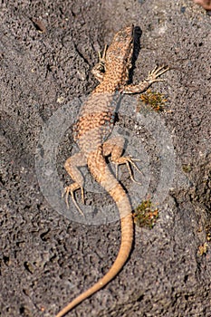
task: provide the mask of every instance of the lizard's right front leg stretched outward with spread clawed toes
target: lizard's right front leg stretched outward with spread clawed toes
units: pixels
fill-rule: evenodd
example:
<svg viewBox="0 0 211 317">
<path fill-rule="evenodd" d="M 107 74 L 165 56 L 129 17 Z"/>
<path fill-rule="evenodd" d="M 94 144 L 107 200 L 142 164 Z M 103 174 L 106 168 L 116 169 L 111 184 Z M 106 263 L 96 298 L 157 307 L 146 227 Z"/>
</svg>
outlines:
<svg viewBox="0 0 211 317">
<path fill-rule="evenodd" d="M 153 82 L 164 82 L 165 80 L 158 78 L 161 76 L 164 72 L 167 72 L 169 70 L 168 67 L 160 66 L 155 67 L 152 72 L 149 72 L 148 77 L 143 82 L 139 82 L 137 85 L 130 84 L 128 86 L 125 86 L 123 89 L 123 93 L 140 93 L 143 91 L 146 91 L 149 86 Z"/>
</svg>

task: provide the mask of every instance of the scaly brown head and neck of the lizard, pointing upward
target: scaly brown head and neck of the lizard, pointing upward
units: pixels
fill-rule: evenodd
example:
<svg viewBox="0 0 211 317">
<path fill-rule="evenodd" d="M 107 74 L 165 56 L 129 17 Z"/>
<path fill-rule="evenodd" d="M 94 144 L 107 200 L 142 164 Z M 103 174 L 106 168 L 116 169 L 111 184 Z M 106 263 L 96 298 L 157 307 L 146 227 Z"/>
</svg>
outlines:
<svg viewBox="0 0 211 317">
<path fill-rule="evenodd" d="M 127 82 L 134 46 L 134 25 L 131 24 L 114 35 L 106 52 L 105 68 L 120 72 L 122 83 Z"/>
</svg>

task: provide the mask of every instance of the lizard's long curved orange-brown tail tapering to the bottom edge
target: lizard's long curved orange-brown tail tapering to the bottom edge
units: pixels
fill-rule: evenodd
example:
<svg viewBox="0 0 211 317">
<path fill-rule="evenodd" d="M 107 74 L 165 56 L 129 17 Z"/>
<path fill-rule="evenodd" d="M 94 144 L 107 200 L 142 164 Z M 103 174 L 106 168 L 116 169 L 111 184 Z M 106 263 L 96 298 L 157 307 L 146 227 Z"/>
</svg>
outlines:
<svg viewBox="0 0 211 317">
<path fill-rule="evenodd" d="M 67 312 L 72 310 L 73 307 L 82 303 L 82 301 L 90 297 L 93 293 L 101 290 L 102 287 L 109 283 L 120 272 L 121 268 L 126 263 L 133 242 L 133 219 L 129 197 L 123 187 L 120 186 L 117 179 L 110 173 L 110 169 L 108 168 L 105 159 L 102 157 L 101 151 L 98 153 L 94 152 L 89 156 L 88 167 L 91 170 L 93 177 L 110 193 L 110 196 L 119 208 L 121 225 L 120 250 L 108 273 L 105 274 L 97 283 L 93 284 L 91 288 L 80 294 L 71 303 L 65 306 L 62 311 L 58 312 L 56 317 L 64 316 Z"/>
</svg>

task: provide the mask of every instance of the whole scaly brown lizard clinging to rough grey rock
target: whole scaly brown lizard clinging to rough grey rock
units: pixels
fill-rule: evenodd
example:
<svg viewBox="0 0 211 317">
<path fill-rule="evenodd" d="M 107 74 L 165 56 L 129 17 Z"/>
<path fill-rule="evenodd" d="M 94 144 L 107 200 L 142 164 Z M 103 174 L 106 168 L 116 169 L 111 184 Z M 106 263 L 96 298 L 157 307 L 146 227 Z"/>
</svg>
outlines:
<svg viewBox="0 0 211 317">
<path fill-rule="evenodd" d="M 116 167 L 120 164 L 127 164 L 130 176 L 129 164 L 135 166 L 135 159 L 121 157 L 124 139 L 121 137 L 109 139 L 109 137 L 120 96 L 124 93 L 138 93 L 147 90 L 153 82 L 161 81 L 158 76 L 168 71 L 167 67 L 157 67 L 149 72 L 148 78 L 143 82 L 139 82 L 137 85 L 128 84 L 133 46 L 134 26 L 130 25 L 120 30 L 114 36 L 109 48 L 105 47 L 102 56 L 100 54 L 100 62 L 92 70 L 100 84 L 82 105 L 79 119 L 74 127 L 74 140 L 77 142 L 80 152 L 67 159 L 64 165 L 74 181 L 64 190 L 67 203 L 70 193 L 75 206 L 82 212 L 74 199 L 74 191 L 81 189 L 83 200 L 83 178 L 79 167 L 85 165 L 88 166 L 93 178 L 106 189 L 115 201 L 120 212 L 120 251 L 109 272 L 91 288 L 73 299 L 61 312 L 58 312 L 56 317 L 62 317 L 109 283 L 126 263 L 131 250 L 133 241 L 132 207 L 125 190 L 110 172 L 105 157 L 110 155 L 111 161 L 116 164 Z"/>
</svg>

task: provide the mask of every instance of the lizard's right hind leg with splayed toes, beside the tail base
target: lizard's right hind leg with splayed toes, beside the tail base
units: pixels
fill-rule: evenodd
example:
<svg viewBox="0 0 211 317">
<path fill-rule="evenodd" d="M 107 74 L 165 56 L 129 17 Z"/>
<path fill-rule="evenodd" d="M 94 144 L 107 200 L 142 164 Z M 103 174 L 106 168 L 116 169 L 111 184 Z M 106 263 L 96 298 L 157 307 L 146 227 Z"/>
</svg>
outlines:
<svg viewBox="0 0 211 317">
<path fill-rule="evenodd" d="M 121 164 L 126 164 L 129 169 L 129 177 L 134 183 L 141 185 L 135 178 L 133 177 L 132 168 L 135 168 L 140 174 L 142 172 L 139 170 L 138 166 L 135 162 L 139 161 L 139 159 L 133 159 L 131 156 L 122 157 L 122 151 L 124 149 L 125 139 L 121 136 L 113 137 L 108 139 L 103 144 L 103 155 L 109 156 L 111 154 L 111 161 L 116 165 L 116 178 L 118 178 L 118 168 Z"/>
</svg>

